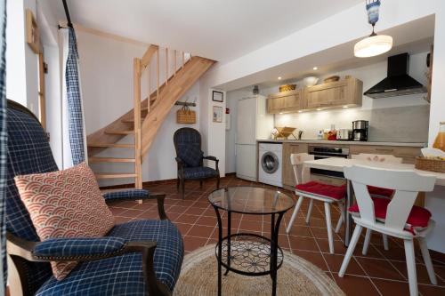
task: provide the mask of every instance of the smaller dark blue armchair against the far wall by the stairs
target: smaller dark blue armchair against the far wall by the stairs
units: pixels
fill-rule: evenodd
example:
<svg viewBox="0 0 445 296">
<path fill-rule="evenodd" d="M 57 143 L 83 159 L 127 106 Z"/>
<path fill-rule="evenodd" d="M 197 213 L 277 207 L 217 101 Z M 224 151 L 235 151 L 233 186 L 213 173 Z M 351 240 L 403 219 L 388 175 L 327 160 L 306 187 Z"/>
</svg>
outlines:
<svg viewBox="0 0 445 296">
<path fill-rule="evenodd" d="M 219 160 L 214 156 L 204 156 L 201 150 L 201 134 L 190 127 L 183 127 L 174 132 L 173 140 L 178 165 L 176 188 L 181 187 L 182 199 L 185 195 L 185 180 L 199 180 L 202 188 L 203 180 L 216 178 L 216 188 L 219 188 Z M 215 169 L 204 166 L 204 159 L 214 161 Z"/>
</svg>

